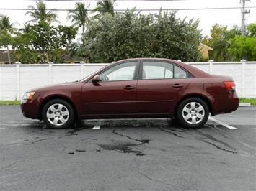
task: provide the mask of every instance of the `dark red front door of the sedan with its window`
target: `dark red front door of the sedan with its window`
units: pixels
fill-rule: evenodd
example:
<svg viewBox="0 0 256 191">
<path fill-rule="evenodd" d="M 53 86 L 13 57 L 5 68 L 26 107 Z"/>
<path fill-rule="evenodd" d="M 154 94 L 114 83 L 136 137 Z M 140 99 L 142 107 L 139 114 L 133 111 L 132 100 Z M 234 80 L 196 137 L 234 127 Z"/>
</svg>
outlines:
<svg viewBox="0 0 256 191">
<path fill-rule="evenodd" d="M 114 64 L 98 75 L 100 82 L 88 82 L 82 88 L 84 115 L 111 116 L 134 113 L 138 61 Z"/>
</svg>

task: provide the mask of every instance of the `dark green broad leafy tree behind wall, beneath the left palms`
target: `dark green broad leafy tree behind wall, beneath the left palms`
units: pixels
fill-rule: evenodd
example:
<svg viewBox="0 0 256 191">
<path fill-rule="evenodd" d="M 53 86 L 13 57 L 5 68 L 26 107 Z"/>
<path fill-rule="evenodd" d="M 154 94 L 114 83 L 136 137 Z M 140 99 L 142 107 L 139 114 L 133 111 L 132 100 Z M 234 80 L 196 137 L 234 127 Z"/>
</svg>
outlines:
<svg viewBox="0 0 256 191">
<path fill-rule="evenodd" d="M 24 63 L 63 62 L 64 55 L 69 54 L 76 32 L 77 28 L 61 25 L 53 27 L 43 21 L 35 25 L 28 24 L 22 33 L 14 37 L 14 55 Z"/>
</svg>

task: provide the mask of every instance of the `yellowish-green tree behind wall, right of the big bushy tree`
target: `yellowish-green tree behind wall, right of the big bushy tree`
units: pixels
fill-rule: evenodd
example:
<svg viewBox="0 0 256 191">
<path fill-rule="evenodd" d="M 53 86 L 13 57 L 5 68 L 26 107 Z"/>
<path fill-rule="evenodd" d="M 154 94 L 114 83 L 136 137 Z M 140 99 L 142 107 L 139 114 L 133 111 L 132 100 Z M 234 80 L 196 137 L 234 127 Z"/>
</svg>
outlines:
<svg viewBox="0 0 256 191">
<path fill-rule="evenodd" d="M 213 25 L 211 29 L 211 37 L 205 37 L 203 44 L 212 47 L 213 50 L 210 52 L 210 58 L 215 61 L 230 61 L 231 56 L 229 55 L 229 39 L 241 34 L 237 27 L 229 30 L 226 26 L 219 24 Z"/>
</svg>

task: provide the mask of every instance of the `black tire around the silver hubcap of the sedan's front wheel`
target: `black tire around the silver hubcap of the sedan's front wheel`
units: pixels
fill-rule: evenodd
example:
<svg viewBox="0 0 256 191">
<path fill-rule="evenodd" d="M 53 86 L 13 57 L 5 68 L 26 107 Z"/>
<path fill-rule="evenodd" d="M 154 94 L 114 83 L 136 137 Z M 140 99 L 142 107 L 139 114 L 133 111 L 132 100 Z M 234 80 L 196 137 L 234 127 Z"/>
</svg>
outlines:
<svg viewBox="0 0 256 191">
<path fill-rule="evenodd" d="M 48 108 L 50 108 L 50 106 L 53 106 L 54 104 L 62 104 L 63 106 L 66 107 L 65 109 L 69 111 L 69 116 L 66 118 L 66 122 L 64 124 L 54 125 L 54 124 L 51 124 L 50 121 L 48 120 L 47 118 Z M 72 124 L 74 124 L 74 119 L 75 119 L 74 108 L 72 108 L 72 106 L 67 101 L 64 101 L 62 99 L 53 99 L 45 103 L 45 106 L 43 106 L 42 117 L 43 117 L 43 121 L 45 121 L 45 124 L 47 124 L 50 128 L 66 129 L 66 128 L 69 128 Z"/>
</svg>

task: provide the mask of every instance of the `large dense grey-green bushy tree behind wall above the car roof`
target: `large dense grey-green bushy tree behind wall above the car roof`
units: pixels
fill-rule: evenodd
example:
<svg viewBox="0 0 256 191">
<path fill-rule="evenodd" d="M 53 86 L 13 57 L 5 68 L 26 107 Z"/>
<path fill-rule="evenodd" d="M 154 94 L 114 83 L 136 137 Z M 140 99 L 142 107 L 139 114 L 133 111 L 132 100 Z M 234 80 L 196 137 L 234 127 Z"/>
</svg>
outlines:
<svg viewBox="0 0 256 191">
<path fill-rule="evenodd" d="M 198 22 L 177 19 L 175 12 L 105 15 L 87 27 L 85 37 L 92 62 L 112 62 L 131 57 L 199 59 Z"/>
</svg>

